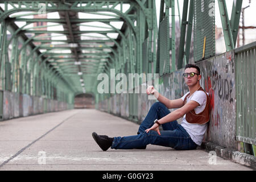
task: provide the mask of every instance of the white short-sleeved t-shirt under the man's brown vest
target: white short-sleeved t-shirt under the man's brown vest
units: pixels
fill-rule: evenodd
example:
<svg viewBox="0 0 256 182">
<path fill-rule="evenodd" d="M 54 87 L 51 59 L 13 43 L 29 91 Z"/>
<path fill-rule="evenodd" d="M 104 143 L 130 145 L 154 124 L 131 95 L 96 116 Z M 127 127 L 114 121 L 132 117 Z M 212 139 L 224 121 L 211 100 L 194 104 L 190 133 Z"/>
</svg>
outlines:
<svg viewBox="0 0 256 182">
<path fill-rule="evenodd" d="M 189 94 L 189 92 L 181 97 L 183 101 L 187 94 Z M 195 113 L 199 114 L 205 109 L 205 106 L 207 104 L 207 96 L 203 91 L 197 90 L 192 94 L 192 96 L 187 97 L 187 103 L 189 101 L 196 101 L 199 104 L 199 106 L 195 108 Z M 181 120 L 181 126 L 184 127 L 193 142 L 200 146 L 204 138 L 204 133 L 207 130 L 207 123 L 205 123 L 204 125 L 188 123 L 186 121 L 186 115 L 184 115 Z"/>
</svg>

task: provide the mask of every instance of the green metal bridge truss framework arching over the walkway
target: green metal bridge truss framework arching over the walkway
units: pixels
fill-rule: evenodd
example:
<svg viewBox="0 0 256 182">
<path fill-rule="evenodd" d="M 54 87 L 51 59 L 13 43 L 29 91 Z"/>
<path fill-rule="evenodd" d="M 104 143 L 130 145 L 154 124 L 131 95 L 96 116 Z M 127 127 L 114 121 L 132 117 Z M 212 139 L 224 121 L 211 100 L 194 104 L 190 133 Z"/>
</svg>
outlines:
<svg viewBox="0 0 256 182">
<path fill-rule="evenodd" d="M 180 32 L 175 3 L 179 8 L 175 0 L 0 1 L 0 89 L 69 103 L 86 92 L 97 102 L 110 96 L 97 94 L 99 73 L 110 75 L 114 68 L 116 74 L 163 75 L 182 68 L 189 62 L 193 22 L 195 61 L 213 56 L 214 16 L 204 28 L 200 17 L 214 8 L 214 0 L 184 0 Z M 236 44 L 242 1 L 233 5 L 231 20 L 225 1 L 218 4 L 229 51 Z M 59 17 L 47 17 L 51 13 Z"/>
</svg>

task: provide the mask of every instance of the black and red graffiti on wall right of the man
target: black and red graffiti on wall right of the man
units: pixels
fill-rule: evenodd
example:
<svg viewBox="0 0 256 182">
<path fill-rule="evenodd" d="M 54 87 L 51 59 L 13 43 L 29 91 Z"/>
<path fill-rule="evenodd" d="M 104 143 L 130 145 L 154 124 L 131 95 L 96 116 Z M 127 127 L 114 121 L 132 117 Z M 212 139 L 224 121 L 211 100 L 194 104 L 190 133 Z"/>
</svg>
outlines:
<svg viewBox="0 0 256 182">
<path fill-rule="evenodd" d="M 234 105 L 233 56 L 226 53 L 219 59 L 208 61 L 208 75 L 204 78 L 205 91 L 210 97 L 211 126 L 217 129 L 221 127 L 223 107 Z"/>
</svg>

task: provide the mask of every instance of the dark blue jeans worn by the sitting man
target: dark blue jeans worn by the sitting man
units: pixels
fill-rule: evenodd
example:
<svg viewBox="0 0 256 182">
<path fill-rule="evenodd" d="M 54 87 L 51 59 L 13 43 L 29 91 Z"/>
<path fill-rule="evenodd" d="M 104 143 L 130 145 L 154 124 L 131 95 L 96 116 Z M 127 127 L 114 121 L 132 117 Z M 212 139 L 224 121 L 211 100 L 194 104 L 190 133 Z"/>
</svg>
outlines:
<svg viewBox="0 0 256 182">
<path fill-rule="evenodd" d="M 155 144 L 159 146 L 171 147 L 176 150 L 193 150 L 197 144 L 193 142 L 187 131 L 177 123 L 172 121 L 162 125 L 159 135 L 156 131 L 146 129 L 154 125 L 155 119 L 160 119 L 170 113 L 170 110 L 161 102 L 155 102 L 147 113 L 146 118 L 139 126 L 138 135 L 129 137 L 114 137 L 111 148 L 114 149 L 132 149 Z"/>
</svg>

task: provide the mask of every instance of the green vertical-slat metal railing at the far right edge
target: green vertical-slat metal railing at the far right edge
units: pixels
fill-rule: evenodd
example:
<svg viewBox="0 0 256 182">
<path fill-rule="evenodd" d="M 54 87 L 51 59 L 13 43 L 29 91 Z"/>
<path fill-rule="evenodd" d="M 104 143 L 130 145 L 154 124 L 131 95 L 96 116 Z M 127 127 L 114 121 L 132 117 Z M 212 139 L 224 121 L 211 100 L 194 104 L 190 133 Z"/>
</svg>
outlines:
<svg viewBox="0 0 256 182">
<path fill-rule="evenodd" d="M 256 42 L 234 49 L 236 60 L 236 140 L 256 144 Z"/>
</svg>

